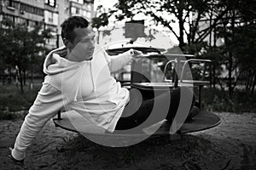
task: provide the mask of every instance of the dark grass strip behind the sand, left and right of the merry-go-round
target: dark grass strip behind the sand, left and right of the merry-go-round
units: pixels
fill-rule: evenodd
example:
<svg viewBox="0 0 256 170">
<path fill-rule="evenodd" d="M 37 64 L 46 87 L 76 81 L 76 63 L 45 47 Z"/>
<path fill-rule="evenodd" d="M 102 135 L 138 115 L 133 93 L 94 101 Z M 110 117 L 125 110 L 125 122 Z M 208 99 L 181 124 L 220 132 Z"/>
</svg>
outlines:
<svg viewBox="0 0 256 170">
<path fill-rule="evenodd" d="M 21 94 L 20 88 L 15 85 L 0 85 L 0 119 L 10 120 L 25 116 L 40 88 L 41 86 L 35 86 L 30 90 L 26 86 L 24 94 Z M 256 112 L 256 95 L 247 95 L 243 91 L 236 91 L 230 99 L 226 91 L 204 88 L 202 100 L 207 111 Z"/>
</svg>

